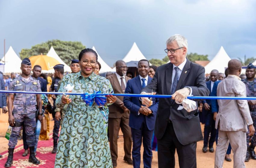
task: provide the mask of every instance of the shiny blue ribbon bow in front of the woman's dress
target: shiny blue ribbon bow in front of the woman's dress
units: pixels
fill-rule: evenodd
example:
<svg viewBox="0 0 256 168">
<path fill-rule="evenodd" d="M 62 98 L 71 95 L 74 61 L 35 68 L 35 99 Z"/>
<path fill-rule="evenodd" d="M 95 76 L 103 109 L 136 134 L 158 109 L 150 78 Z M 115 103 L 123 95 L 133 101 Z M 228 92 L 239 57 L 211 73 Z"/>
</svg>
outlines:
<svg viewBox="0 0 256 168">
<path fill-rule="evenodd" d="M 100 94 L 96 95 L 96 94 Z M 101 95 L 101 91 L 97 91 L 96 93 L 84 93 L 81 95 L 83 101 L 86 103 L 86 105 L 92 106 L 93 102 L 95 102 L 98 106 L 104 106 L 104 104 L 107 102 L 107 98 Z"/>
</svg>

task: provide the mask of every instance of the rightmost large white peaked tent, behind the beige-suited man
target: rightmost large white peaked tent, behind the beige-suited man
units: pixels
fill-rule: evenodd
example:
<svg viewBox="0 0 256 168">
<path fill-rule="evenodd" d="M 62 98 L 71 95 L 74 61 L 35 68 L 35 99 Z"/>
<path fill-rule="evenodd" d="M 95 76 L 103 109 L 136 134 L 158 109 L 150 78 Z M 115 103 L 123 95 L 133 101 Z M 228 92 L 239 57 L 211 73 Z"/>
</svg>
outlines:
<svg viewBox="0 0 256 168">
<path fill-rule="evenodd" d="M 209 62 L 204 68 L 205 73 L 211 73 L 211 70 L 217 69 L 220 73 L 225 72 L 225 67 L 228 67 L 228 62 L 231 58 L 228 56 L 223 46 L 220 47 L 220 50 L 215 55 L 215 57 Z"/>
</svg>

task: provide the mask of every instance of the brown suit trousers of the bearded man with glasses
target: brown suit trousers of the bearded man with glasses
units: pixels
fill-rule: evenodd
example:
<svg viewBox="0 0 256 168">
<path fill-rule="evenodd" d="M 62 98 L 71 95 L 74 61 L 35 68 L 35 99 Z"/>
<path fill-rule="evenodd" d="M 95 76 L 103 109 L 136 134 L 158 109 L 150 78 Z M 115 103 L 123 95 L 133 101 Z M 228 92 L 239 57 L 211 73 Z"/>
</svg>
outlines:
<svg viewBox="0 0 256 168">
<path fill-rule="evenodd" d="M 131 158 L 132 149 L 132 133 L 129 127 L 129 118 L 122 117 L 120 119 L 108 118 L 108 131 L 109 131 L 109 141 L 110 141 L 110 152 L 112 160 L 117 160 L 117 136 L 119 129 L 121 128 L 123 132 L 123 148 L 124 157 Z"/>
</svg>

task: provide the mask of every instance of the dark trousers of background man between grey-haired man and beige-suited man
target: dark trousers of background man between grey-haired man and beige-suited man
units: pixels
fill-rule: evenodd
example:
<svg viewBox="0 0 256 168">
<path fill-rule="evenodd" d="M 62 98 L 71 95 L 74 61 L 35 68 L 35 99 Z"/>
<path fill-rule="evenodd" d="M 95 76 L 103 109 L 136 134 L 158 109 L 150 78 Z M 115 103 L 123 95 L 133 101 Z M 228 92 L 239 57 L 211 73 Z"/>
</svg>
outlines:
<svg viewBox="0 0 256 168">
<path fill-rule="evenodd" d="M 210 136 L 211 133 L 211 136 Z M 210 136 L 210 139 L 209 139 Z M 216 129 L 215 129 L 215 121 L 213 119 L 213 113 L 209 112 L 205 116 L 205 124 L 204 124 L 204 146 L 209 147 L 213 146 L 213 143 L 216 138 Z"/>
</svg>

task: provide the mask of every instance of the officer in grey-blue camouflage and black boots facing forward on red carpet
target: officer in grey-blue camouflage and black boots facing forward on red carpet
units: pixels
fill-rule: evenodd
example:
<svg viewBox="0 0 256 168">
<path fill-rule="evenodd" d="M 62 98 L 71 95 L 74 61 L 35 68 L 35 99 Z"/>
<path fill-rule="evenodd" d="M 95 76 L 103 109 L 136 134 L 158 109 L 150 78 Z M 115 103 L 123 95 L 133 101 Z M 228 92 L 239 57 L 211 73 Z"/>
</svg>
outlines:
<svg viewBox="0 0 256 168">
<path fill-rule="evenodd" d="M 20 67 L 22 74 L 13 79 L 10 83 L 9 90 L 13 91 L 41 91 L 40 83 L 37 79 L 30 76 L 31 63 L 28 58 L 24 58 Z M 21 94 L 10 93 L 8 96 L 8 122 L 12 127 L 11 136 L 9 139 L 8 158 L 5 167 L 11 167 L 13 162 L 14 147 L 17 145 L 17 137 L 20 134 L 21 123 L 24 122 L 25 132 L 27 136 L 27 144 L 30 150 L 29 162 L 40 164 L 34 153 L 36 129 L 36 106 L 39 109 L 38 119 L 42 121 L 42 104 L 39 94 Z M 12 108 L 13 107 L 13 108 Z M 13 109 L 13 110 L 11 110 Z"/>
</svg>

